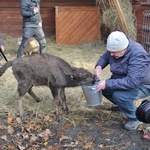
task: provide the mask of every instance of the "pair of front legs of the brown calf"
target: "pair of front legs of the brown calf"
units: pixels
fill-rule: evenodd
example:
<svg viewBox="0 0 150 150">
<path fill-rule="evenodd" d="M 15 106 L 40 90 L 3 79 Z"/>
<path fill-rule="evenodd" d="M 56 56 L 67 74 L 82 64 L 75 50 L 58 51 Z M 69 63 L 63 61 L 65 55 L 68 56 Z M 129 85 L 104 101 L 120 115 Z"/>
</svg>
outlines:
<svg viewBox="0 0 150 150">
<path fill-rule="evenodd" d="M 54 97 L 54 101 L 56 104 L 57 121 L 61 122 L 62 118 L 61 118 L 61 114 L 60 114 L 60 109 L 62 107 L 62 103 L 63 103 L 64 110 L 68 111 L 64 88 L 51 87 L 51 91 L 52 91 L 52 95 Z"/>
</svg>

